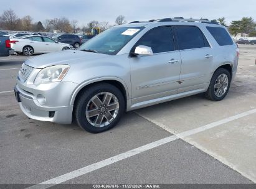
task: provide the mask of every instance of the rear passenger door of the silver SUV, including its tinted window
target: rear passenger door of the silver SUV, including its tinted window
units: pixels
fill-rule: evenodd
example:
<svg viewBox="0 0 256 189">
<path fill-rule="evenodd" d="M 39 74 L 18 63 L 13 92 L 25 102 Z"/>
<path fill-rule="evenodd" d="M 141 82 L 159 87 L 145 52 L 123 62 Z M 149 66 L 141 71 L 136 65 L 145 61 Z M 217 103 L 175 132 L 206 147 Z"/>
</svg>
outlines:
<svg viewBox="0 0 256 189">
<path fill-rule="evenodd" d="M 177 25 L 175 30 L 182 59 L 178 93 L 204 89 L 209 83 L 212 48 L 199 27 Z"/>
</svg>

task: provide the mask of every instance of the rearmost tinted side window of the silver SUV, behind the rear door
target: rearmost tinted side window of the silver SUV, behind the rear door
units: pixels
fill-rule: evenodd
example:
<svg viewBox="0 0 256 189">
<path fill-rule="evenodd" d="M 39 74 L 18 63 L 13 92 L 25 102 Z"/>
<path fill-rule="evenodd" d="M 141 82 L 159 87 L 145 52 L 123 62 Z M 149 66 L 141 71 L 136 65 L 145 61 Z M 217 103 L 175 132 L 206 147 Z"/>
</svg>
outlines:
<svg viewBox="0 0 256 189">
<path fill-rule="evenodd" d="M 209 30 L 209 32 L 212 34 L 212 36 L 220 46 L 234 44 L 229 33 L 224 28 L 222 27 L 206 27 L 206 28 L 207 30 Z"/>
</svg>

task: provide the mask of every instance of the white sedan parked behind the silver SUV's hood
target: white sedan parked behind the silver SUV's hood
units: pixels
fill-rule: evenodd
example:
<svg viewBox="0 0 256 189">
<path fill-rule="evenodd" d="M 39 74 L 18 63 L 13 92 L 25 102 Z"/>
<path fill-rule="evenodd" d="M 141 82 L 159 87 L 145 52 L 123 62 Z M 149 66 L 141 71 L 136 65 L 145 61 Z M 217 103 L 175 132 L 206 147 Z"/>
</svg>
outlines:
<svg viewBox="0 0 256 189">
<path fill-rule="evenodd" d="M 40 35 L 24 36 L 10 40 L 11 48 L 17 53 L 31 56 L 34 53 L 49 53 L 73 48 L 69 44 L 63 44 Z"/>
</svg>

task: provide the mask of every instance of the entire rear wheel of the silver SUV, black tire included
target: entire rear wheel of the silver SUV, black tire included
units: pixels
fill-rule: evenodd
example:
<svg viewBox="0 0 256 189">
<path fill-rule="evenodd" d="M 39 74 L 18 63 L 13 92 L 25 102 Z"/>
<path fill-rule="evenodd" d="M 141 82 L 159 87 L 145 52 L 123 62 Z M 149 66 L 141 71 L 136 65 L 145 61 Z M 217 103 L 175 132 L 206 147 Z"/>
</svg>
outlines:
<svg viewBox="0 0 256 189">
<path fill-rule="evenodd" d="M 224 99 L 229 92 L 230 81 L 231 76 L 228 70 L 225 68 L 216 70 L 212 75 L 209 88 L 206 91 L 206 98 L 212 101 L 220 101 Z"/>
</svg>

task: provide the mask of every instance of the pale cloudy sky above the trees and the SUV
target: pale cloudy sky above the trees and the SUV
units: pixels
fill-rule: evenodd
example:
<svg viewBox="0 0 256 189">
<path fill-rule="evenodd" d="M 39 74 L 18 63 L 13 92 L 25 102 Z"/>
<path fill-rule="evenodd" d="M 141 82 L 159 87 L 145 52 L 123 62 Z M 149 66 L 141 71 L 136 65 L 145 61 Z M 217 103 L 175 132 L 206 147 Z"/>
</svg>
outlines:
<svg viewBox="0 0 256 189">
<path fill-rule="evenodd" d="M 6 9 L 19 17 L 30 15 L 34 22 L 67 17 L 77 20 L 80 27 L 93 20 L 114 24 L 118 15 L 125 16 L 127 22 L 178 16 L 209 20 L 225 17 L 227 24 L 242 17 L 256 21 L 256 0 L 12 0 L 1 3 L 0 15 Z"/>
</svg>

